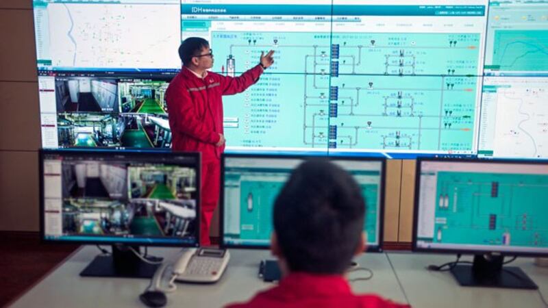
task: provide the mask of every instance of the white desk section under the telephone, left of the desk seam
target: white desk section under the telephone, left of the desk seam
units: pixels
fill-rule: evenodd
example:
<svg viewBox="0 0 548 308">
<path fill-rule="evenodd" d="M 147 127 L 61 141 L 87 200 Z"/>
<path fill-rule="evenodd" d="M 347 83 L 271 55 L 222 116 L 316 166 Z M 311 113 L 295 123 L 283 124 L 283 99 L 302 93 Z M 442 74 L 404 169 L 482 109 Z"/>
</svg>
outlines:
<svg viewBox="0 0 548 308">
<path fill-rule="evenodd" d="M 138 295 L 149 284 L 148 279 L 101 279 L 80 277 L 81 272 L 99 251 L 83 246 L 62 266 L 51 272 L 38 285 L 18 298 L 12 307 L 145 307 Z M 175 248 L 150 248 L 150 255 L 171 256 Z M 269 251 L 230 250 L 230 262 L 221 280 L 212 285 L 177 284 L 177 291 L 168 294 L 167 307 L 221 307 L 226 303 L 244 301 L 256 292 L 271 287 L 257 277 L 260 259 L 272 259 Z M 351 283 L 354 292 L 377 293 L 405 303 L 406 298 L 384 253 L 369 253 L 356 258 L 360 266 L 370 268 L 369 281 Z M 349 278 L 363 277 L 355 272 Z"/>
</svg>

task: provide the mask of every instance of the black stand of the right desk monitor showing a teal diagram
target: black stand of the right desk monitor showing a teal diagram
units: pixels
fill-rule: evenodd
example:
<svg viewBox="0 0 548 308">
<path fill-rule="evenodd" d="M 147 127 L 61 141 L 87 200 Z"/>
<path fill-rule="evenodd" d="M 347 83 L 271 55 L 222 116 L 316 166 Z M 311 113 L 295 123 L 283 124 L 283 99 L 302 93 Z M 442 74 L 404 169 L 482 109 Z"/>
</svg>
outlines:
<svg viewBox="0 0 548 308">
<path fill-rule="evenodd" d="M 473 265 L 457 265 L 451 273 L 466 287 L 506 287 L 536 290 L 538 286 L 518 267 L 504 266 L 501 255 L 475 255 Z"/>
</svg>

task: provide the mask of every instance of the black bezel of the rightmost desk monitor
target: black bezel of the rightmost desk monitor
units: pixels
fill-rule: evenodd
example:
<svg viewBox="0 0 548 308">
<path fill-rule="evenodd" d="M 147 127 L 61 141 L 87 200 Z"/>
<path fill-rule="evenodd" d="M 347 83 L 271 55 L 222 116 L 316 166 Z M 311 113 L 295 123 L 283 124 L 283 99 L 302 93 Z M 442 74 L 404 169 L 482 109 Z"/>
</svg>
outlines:
<svg viewBox="0 0 548 308">
<path fill-rule="evenodd" d="M 442 158 L 442 157 L 419 157 L 416 159 L 415 171 L 415 189 L 413 201 L 413 230 L 412 230 L 412 251 L 420 253 L 444 253 L 444 254 L 462 254 L 462 255 L 484 255 L 497 254 L 506 256 L 523 256 L 523 257 L 542 257 L 548 256 L 547 253 L 527 253 L 523 251 L 501 251 L 497 250 L 496 246 L 493 249 L 466 249 L 466 248 L 424 248 L 417 245 L 418 228 L 419 228 L 419 199 L 421 190 L 421 166 L 423 162 L 462 162 L 476 164 L 530 164 L 540 165 L 547 164 L 545 161 L 538 160 L 516 160 L 516 159 L 458 159 L 458 158 Z"/>
</svg>

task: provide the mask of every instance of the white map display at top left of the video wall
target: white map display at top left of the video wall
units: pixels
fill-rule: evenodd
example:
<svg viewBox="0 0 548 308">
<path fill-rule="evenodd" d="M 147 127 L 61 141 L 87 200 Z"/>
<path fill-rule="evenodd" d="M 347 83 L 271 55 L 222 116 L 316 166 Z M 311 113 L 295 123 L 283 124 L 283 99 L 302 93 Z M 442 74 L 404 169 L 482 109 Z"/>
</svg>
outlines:
<svg viewBox="0 0 548 308">
<path fill-rule="evenodd" d="M 38 70 L 180 68 L 178 0 L 34 0 Z"/>
</svg>

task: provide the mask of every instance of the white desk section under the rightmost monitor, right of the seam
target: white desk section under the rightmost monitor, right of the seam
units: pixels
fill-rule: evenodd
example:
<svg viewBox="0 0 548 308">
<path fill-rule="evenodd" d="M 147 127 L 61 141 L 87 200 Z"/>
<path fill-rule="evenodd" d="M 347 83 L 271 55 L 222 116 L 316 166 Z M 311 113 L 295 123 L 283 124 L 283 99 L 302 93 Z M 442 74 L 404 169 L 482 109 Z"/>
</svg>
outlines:
<svg viewBox="0 0 548 308">
<path fill-rule="evenodd" d="M 413 307 L 545 307 L 537 290 L 461 287 L 451 272 L 426 270 L 430 264 L 455 261 L 454 255 L 389 253 L 388 257 Z M 533 264 L 532 258 L 518 258 L 508 266 L 518 266 L 548 296 L 548 268 Z M 462 261 L 472 261 L 471 256 Z"/>
</svg>

